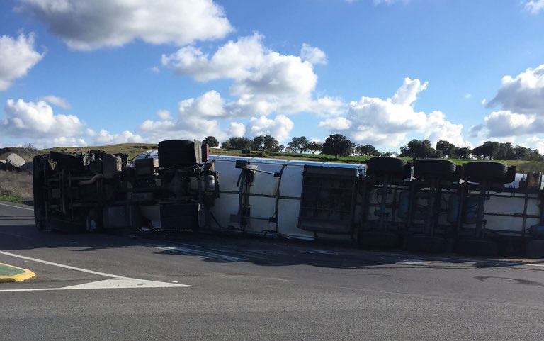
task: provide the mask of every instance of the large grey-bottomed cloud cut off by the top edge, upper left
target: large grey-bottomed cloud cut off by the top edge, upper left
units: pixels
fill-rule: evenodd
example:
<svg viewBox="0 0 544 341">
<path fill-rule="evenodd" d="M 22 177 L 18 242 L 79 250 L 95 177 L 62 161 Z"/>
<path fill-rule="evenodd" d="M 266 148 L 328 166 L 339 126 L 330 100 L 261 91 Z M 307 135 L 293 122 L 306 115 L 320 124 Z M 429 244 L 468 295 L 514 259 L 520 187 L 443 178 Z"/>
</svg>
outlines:
<svg viewBox="0 0 544 341">
<path fill-rule="evenodd" d="M 186 45 L 223 38 L 232 31 L 212 0 L 18 0 L 17 11 L 31 13 L 69 47 L 96 50 L 141 39 Z"/>
</svg>

